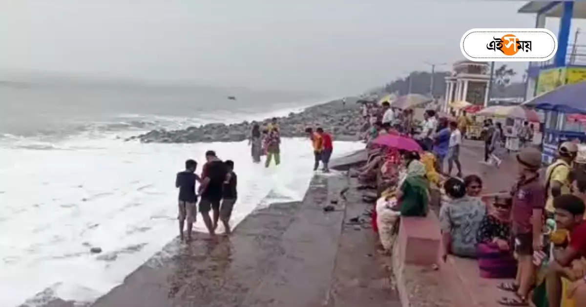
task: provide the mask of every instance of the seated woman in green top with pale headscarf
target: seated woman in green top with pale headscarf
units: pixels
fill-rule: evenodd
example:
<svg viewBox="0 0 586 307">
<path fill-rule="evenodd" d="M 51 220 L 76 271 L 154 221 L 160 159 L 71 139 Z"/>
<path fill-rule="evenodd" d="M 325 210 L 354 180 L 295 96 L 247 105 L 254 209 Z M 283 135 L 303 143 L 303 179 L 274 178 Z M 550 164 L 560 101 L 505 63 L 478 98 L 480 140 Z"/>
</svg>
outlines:
<svg viewBox="0 0 586 307">
<path fill-rule="evenodd" d="M 428 184 L 425 179 L 425 165 L 419 161 L 417 151 L 401 154 L 401 163 L 407 167 L 407 177 L 397 191 L 398 208 L 401 216 L 427 216 L 429 203 Z"/>
</svg>

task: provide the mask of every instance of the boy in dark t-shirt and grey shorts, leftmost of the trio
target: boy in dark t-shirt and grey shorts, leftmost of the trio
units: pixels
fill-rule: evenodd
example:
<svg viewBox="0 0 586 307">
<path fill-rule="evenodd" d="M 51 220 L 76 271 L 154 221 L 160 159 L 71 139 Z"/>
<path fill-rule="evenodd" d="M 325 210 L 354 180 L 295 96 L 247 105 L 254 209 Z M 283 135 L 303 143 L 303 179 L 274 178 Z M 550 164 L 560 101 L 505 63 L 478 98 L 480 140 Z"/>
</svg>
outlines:
<svg viewBox="0 0 586 307">
<path fill-rule="evenodd" d="M 195 174 L 197 162 L 194 160 L 185 161 L 185 171 L 177 173 L 175 187 L 179 188 L 179 238 L 183 241 L 183 226 L 187 219 L 187 240 L 191 240 L 193 222 L 197 216 L 197 195 L 195 195 L 195 182 L 200 181 Z"/>
</svg>

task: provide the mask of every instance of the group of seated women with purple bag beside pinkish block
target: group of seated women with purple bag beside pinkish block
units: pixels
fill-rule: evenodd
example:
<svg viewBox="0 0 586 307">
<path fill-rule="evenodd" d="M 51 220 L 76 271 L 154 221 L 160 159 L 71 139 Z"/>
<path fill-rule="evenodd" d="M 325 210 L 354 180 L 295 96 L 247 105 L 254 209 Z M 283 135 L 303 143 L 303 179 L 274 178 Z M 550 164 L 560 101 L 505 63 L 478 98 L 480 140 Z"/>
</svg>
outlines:
<svg viewBox="0 0 586 307">
<path fill-rule="evenodd" d="M 444 184 L 448 201 L 440 209 L 444 260 L 448 253 L 478 258 L 481 276 L 515 277 L 516 260 L 510 244 L 512 199 L 495 196 L 487 210 L 479 194 L 482 180 L 469 175 L 464 181 L 449 178 Z"/>
</svg>

